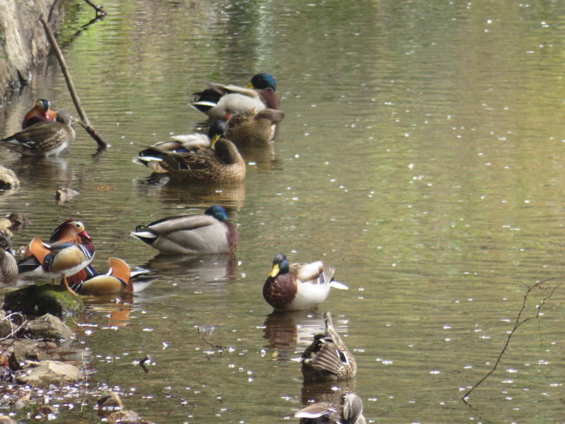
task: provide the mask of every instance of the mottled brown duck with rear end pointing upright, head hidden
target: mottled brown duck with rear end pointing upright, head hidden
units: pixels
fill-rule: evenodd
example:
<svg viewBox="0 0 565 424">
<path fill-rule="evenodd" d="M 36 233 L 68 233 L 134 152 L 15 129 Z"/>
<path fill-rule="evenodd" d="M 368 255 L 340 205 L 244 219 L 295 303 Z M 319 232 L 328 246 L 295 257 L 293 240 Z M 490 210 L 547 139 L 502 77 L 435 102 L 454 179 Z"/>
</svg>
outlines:
<svg viewBox="0 0 565 424">
<path fill-rule="evenodd" d="M 323 334 L 316 334 L 300 357 L 304 381 L 335 382 L 355 377 L 357 363 L 333 328 L 330 312 L 323 315 L 323 322 Z"/>
</svg>

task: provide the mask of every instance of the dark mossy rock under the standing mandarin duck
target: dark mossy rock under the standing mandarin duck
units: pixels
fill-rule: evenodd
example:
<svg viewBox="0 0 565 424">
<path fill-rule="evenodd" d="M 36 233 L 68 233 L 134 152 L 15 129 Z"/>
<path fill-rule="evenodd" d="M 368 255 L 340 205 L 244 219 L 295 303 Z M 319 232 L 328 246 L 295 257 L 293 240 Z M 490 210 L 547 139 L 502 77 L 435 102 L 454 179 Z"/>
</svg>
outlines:
<svg viewBox="0 0 565 424">
<path fill-rule="evenodd" d="M 66 319 L 76 317 L 84 310 L 84 302 L 62 285 L 28 285 L 28 287 L 11 290 L 4 295 L 6 312 L 20 312 L 24 315 L 40 317 L 52 314 Z"/>
</svg>

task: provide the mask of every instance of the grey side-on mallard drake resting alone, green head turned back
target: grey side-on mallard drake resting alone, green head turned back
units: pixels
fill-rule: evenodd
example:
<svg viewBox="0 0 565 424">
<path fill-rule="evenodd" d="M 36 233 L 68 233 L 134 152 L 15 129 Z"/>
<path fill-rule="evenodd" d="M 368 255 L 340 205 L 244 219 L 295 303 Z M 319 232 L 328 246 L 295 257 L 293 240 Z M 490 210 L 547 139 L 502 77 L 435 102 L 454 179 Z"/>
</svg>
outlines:
<svg viewBox="0 0 565 424">
<path fill-rule="evenodd" d="M 163 253 L 232 253 L 239 232 L 227 220 L 222 206 L 210 206 L 203 215 L 169 216 L 149 225 L 138 225 L 131 235 Z"/>
</svg>

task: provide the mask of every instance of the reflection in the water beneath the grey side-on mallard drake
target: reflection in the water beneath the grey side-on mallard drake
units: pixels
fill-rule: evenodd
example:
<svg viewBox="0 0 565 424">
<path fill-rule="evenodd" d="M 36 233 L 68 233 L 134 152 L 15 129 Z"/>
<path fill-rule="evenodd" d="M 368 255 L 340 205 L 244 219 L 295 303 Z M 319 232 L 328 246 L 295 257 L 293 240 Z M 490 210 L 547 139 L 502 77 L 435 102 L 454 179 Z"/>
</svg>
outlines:
<svg viewBox="0 0 565 424">
<path fill-rule="evenodd" d="M 177 278 L 198 279 L 205 283 L 234 281 L 237 278 L 235 254 L 207 254 L 201 256 L 157 254 L 143 268 L 154 273 Z"/>
</svg>

